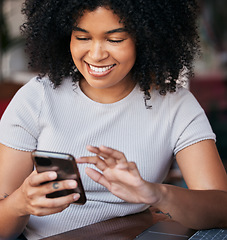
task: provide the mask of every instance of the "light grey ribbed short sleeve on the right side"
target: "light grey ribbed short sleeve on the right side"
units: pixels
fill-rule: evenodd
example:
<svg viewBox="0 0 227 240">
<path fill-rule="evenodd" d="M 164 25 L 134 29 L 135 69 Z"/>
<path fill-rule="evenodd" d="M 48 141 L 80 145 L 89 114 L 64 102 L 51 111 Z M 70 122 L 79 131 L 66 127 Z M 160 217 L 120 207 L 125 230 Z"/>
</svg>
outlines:
<svg viewBox="0 0 227 240">
<path fill-rule="evenodd" d="M 216 140 L 204 110 L 187 89 L 180 88 L 170 96 L 169 111 L 174 154 L 194 143 Z"/>
</svg>

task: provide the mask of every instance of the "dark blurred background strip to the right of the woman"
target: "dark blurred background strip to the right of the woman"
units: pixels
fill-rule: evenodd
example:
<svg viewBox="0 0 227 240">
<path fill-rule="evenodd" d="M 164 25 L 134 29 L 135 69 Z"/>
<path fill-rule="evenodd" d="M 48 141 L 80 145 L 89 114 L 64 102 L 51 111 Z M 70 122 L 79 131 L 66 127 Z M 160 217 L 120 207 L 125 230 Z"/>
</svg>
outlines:
<svg viewBox="0 0 227 240">
<path fill-rule="evenodd" d="M 198 0 L 201 57 L 190 90 L 204 108 L 227 168 L 227 1 Z"/>
</svg>

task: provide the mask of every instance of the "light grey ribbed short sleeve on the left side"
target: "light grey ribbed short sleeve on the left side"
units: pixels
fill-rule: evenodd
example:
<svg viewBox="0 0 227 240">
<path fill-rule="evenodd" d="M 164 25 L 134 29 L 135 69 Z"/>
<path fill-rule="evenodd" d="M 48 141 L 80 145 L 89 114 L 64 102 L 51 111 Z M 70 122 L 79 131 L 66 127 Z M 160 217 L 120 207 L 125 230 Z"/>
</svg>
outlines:
<svg viewBox="0 0 227 240">
<path fill-rule="evenodd" d="M 37 78 L 19 89 L 0 121 L 2 144 L 22 151 L 36 148 L 42 99 L 43 84 Z"/>
</svg>

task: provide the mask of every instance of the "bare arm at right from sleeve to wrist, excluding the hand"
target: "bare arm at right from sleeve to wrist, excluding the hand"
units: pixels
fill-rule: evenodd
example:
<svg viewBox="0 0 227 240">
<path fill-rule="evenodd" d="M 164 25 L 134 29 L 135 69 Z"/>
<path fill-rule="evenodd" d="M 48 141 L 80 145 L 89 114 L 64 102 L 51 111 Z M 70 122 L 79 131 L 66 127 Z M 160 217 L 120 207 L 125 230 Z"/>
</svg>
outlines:
<svg viewBox="0 0 227 240">
<path fill-rule="evenodd" d="M 227 227 L 227 175 L 214 141 L 189 146 L 176 159 L 190 190 L 169 187 L 168 201 L 177 206 L 169 208 L 173 218 L 194 228 Z"/>
</svg>

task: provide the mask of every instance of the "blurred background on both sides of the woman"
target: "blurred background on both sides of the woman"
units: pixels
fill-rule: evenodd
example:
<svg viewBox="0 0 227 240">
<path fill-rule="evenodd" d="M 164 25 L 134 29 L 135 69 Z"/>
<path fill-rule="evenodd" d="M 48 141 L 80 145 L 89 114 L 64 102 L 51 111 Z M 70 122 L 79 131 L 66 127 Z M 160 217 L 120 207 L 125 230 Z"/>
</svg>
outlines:
<svg viewBox="0 0 227 240">
<path fill-rule="evenodd" d="M 198 31 L 201 56 L 189 88 L 204 108 L 217 135 L 217 147 L 227 163 L 227 1 L 198 0 L 201 5 Z M 0 0 L 0 117 L 15 91 L 36 75 L 27 68 L 23 0 Z"/>
</svg>

